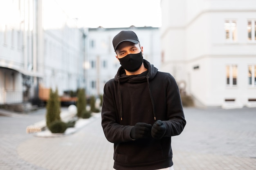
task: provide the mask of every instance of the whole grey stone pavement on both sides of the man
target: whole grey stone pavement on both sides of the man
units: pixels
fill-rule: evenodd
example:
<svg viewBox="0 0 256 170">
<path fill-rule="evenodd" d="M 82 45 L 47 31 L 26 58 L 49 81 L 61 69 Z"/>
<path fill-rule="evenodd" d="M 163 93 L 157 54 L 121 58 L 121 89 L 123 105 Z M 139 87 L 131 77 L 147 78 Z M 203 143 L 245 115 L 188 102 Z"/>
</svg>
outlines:
<svg viewBox="0 0 256 170">
<path fill-rule="evenodd" d="M 256 108 L 184 108 L 186 127 L 172 138 L 175 170 L 256 170 Z M 45 110 L 0 116 L 0 170 L 112 170 L 113 145 L 101 119 L 72 135 L 36 137 L 26 127 Z"/>
</svg>

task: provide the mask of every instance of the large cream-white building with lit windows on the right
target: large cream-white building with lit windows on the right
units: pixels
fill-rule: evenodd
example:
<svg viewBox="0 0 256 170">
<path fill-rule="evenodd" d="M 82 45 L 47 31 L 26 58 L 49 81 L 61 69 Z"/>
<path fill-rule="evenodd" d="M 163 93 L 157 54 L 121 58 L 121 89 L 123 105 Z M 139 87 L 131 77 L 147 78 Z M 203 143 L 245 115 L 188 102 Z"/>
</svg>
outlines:
<svg viewBox="0 0 256 170">
<path fill-rule="evenodd" d="M 161 0 L 161 8 L 163 71 L 197 106 L 255 107 L 256 0 Z"/>
</svg>

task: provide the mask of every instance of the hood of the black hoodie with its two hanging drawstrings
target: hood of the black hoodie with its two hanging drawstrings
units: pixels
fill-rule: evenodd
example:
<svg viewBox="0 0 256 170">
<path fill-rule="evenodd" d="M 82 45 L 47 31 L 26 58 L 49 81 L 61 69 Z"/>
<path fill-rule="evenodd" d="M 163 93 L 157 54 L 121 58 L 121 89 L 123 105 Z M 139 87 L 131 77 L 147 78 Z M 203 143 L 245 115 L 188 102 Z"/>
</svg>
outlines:
<svg viewBox="0 0 256 170">
<path fill-rule="evenodd" d="M 120 84 L 122 83 L 130 83 L 130 84 L 135 84 L 135 83 L 141 83 L 141 82 L 147 82 L 148 84 L 148 91 L 151 99 L 151 104 L 153 107 L 153 117 L 155 119 L 155 104 L 154 104 L 154 99 L 153 95 L 150 89 L 150 83 L 149 81 L 155 77 L 157 74 L 158 69 L 154 67 L 153 64 L 150 64 L 147 60 L 143 60 L 143 64 L 145 68 L 148 70 L 145 71 L 144 73 L 141 73 L 140 75 L 126 75 L 125 70 L 122 66 L 119 67 L 117 74 L 115 75 L 115 81 L 118 82 L 118 96 L 119 96 L 119 109 L 120 109 L 120 117 L 121 120 L 123 120 L 123 106 L 122 106 L 122 94 L 120 90 Z"/>
</svg>

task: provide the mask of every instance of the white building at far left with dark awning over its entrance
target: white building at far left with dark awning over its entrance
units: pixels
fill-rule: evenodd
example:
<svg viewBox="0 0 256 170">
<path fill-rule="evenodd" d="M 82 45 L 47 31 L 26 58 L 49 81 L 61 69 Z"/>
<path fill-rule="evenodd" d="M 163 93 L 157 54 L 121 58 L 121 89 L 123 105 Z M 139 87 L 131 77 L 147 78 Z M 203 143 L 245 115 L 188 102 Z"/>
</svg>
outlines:
<svg viewBox="0 0 256 170">
<path fill-rule="evenodd" d="M 38 29 L 32 1 L 0 2 L 0 104 L 21 103 L 41 74 L 36 57 Z M 34 28 L 34 29 L 33 29 Z"/>
</svg>

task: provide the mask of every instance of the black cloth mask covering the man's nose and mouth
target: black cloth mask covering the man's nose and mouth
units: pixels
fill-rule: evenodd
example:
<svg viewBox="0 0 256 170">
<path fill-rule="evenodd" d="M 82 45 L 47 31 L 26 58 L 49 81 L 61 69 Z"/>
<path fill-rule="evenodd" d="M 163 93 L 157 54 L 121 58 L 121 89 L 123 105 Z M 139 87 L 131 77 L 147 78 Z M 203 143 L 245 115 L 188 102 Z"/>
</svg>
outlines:
<svg viewBox="0 0 256 170">
<path fill-rule="evenodd" d="M 128 54 L 123 58 L 119 58 L 119 62 L 124 69 L 133 72 L 140 68 L 143 62 L 143 56 L 141 52 L 137 54 Z"/>
</svg>

